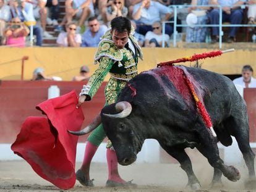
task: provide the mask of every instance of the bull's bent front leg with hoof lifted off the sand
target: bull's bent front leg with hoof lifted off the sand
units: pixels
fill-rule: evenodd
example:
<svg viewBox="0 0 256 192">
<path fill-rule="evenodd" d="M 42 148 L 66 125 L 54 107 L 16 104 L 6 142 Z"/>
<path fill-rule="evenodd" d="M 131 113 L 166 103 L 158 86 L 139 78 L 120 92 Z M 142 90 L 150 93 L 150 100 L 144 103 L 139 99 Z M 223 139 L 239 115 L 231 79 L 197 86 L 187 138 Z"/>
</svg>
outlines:
<svg viewBox="0 0 256 192">
<path fill-rule="evenodd" d="M 233 167 L 228 166 L 223 163 L 223 160 L 220 158 L 220 152 L 217 146 L 216 139 L 213 138 L 210 131 L 206 127 L 197 126 L 198 134 L 200 138 L 200 146 L 197 147 L 203 156 L 207 157 L 208 162 L 215 169 L 220 169 L 223 175 L 229 180 L 236 182 L 240 178 L 239 171 Z"/>
</svg>

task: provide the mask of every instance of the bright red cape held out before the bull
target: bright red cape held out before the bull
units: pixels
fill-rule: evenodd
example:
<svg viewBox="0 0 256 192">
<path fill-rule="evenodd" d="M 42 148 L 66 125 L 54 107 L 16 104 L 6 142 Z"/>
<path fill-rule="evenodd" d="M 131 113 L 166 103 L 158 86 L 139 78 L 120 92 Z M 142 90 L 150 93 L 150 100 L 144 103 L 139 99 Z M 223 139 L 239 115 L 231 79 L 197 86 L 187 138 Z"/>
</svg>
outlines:
<svg viewBox="0 0 256 192">
<path fill-rule="evenodd" d="M 48 99 L 36 106 L 47 117 L 28 117 L 11 149 L 40 177 L 58 188 L 67 190 L 75 185 L 75 156 L 78 136 L 67 129 L 80 130 L 84 116 L 75 106 L 75 91 Z"/>
</svg>

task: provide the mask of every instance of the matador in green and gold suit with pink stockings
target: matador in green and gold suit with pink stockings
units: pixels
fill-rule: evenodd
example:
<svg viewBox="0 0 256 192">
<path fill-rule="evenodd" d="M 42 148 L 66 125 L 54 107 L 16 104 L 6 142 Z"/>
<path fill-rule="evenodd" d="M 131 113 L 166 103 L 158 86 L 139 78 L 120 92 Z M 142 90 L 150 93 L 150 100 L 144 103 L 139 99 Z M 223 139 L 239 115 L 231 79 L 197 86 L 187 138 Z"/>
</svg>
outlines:
<svg viewBox="0 0 256 192">
<path fill-rule="evenodd" d="M 111 20 L 111 29 L 102 37 L 96 50 L 95 62 L 99 62 L 99 67 L 90 77 L 87 85 L 83 85 L 77 107 L 93 98 L 108 73 L 110 78 L 105 88 L 105 105 L 116 102 L 122 88 L 137 75 L 137 64 L 139 58 L 142 59 L 142 51 L 131 30 L 130 20 L 126 17 L 121 16 Z M 76 173 L 77 180 L 84 186 L 93 186 L 93 180 L 90 180 L 90 163 L 105 137 L 106 133 L 101 123 L 88 137 L 83 163 Z M 136 186 L 119 176 L 116 152 L 111 148 L 111 143 L 107 144 L 106 157 L 109 171 L 106 186 Z"/>
</svg>

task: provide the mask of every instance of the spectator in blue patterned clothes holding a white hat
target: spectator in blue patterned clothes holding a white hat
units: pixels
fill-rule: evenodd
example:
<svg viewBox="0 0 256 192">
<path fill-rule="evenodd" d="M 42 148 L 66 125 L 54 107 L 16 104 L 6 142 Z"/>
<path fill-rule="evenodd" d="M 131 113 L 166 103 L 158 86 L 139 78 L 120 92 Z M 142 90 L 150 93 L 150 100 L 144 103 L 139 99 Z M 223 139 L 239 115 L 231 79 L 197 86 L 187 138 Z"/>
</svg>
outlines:
<svg viewBox="0 0 256 192">
<path fill-rule="evenodd" d="M 196 20 L 195 25 L 205 25 L 208 23 L 208 15 L 207 10 L 210 7 L 197 7 L 197 6 L 205 6 L 208 5 L 208 0 L 192 0 L 191 6 L 188 11 L 187 20 L 191 22 L 193 18 Z M 187 22 L 187 24 L 189 24 Z M 197 42 L 202 43 L 205 42 L 205 38 L 208 33 L 207 27 L 194 27 L 193 25 L 189 25 L 186 31 L 186 42 Z"/>
</svg>

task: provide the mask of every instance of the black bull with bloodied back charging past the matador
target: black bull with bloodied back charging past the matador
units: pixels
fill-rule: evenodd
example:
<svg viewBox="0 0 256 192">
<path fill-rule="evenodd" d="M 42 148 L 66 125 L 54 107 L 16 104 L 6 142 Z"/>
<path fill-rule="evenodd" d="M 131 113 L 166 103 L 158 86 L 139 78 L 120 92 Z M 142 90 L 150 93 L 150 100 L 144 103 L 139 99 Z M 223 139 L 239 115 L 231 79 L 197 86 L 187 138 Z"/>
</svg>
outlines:
<svg viewBox="0 0 256 192">
<path fill-rule="evenodd" d="M 202 99 L 216 138 L 205 126 L 184 74 Z M 145 139 L 153 138 L 179 161 L 192 188 L 200 188 L 200 184 L 185 148 L 197 148 L 207 157 L 214 167 L 212 184 L 221 182 L 222 173 L 233 182 L 239 180 L 239 171 L 224 164 L 217 146 L 218 141 L 224 146 L 231 145 L 232 135 L 249 170 L 247 184 L 255 185 L 255 155 L 249 145 L 247 107 L 233 82 L 223 75 L 181 66 L 143 72 L 127 83 L 117 103 L 104 107 L 100 116 L 119 164 L 132 164 Z"/>
</svg>

